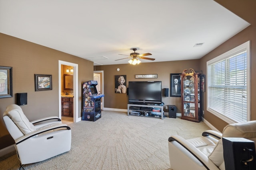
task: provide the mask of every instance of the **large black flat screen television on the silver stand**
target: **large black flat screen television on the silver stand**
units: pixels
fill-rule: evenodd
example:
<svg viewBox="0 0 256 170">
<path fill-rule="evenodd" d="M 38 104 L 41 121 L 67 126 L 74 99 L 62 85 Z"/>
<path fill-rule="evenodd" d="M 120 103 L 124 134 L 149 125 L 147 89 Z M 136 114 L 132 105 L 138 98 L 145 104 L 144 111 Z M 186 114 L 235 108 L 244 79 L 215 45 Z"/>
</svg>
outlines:
<svg viewBox="0 0 256 170">
<path fill-rule="evenodd" d="M 129 82 L 128 98 L 130 104 L 161 104 L 162 82 Z"/>
</svg>

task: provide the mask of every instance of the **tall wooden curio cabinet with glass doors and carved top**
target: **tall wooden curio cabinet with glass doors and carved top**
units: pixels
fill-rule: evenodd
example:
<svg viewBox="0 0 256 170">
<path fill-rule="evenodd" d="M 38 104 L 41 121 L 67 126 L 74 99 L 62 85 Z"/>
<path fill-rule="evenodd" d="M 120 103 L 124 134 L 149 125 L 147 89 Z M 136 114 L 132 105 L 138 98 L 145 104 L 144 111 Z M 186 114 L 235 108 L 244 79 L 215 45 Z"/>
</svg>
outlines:
<svg viewBox="0 0 256 170">
<path fill-rule="evenodd" d="M 183 70 L 181 78 L 181 119 L 200 122 L 200 74 L 193 69 Z"/>
</svg>

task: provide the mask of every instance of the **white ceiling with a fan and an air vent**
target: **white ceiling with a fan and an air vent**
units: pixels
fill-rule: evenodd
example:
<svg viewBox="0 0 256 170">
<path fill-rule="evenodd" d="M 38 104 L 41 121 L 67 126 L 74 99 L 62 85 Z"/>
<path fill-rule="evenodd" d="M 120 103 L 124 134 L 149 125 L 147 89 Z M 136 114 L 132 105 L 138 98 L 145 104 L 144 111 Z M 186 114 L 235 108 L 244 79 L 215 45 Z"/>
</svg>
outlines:
<svg viewBox="0 0 256 170">
<path fill-rule="evenodd" d="M 1 33 L 94 65 L 200 59 L 248 25 L 213 0 L 0 0 Z"/>
</svg>

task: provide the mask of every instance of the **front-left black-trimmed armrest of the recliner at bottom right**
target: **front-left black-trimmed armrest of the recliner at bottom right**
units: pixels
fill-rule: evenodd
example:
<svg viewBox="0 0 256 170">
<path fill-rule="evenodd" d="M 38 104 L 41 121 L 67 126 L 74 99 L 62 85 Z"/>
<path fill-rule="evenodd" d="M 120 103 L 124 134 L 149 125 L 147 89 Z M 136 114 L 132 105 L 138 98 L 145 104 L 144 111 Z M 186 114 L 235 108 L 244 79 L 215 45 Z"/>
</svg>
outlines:
<svg viewBox="0 0 256 170">
<path fill-rule="evenodd" d="M 200 150 L 198 150 L 196 147 L 188 143 L 186 139 L 178 135 L 172 135 L 171 137 L 169 137 L 168 141 L 176 141 L 177 143 L 179 143 L 184 149 L 188 150 L 188 152 L 190 152 L 198 161 L 200 161 L 206 169 L 218 169 L 217 166 L 206 155 L 202 154 Z"/>
</svg>

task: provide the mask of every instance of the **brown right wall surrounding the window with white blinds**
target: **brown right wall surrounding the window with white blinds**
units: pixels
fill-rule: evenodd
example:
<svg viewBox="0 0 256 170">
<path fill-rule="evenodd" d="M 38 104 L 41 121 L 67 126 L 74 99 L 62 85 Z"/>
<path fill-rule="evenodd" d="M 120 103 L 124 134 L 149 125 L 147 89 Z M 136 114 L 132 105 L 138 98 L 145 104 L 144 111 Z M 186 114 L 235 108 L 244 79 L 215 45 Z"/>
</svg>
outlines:
<svg viewBox="0 0 256 170">
<path fill-rule="evenodd" d="M 220 5 L 224 6 L 234 14 L 240 16 L 242 19 L 248 21 L 251 25 L 235 35 L 234 37 L 228 39 L 228 41 L 224 42 L 222 45 L 208 53 L 206 56 L 200 59 L 200 70 L 202 70 L 206 74 L 206 62 L 217 57 L 246 41 L 250 41 L 251 43 L 251 56 L 250 56 L 250 72 L 251 72 L 251 120 L 256 120 L 256 112 L 254 111 L 254 104 L 256 103 L 256 96 L 252 95 L 256 93 L 256 89 L 253 88 L 253 85 L 256 84 L 256 10 L 254 9 L 256 6 L 256 1 L 254 0 L 215 0 Z M 206 82 L 207 83 L 207 82 Z M 203 107 L 206 108 L 206 92 L 202 96 L 204 98 Z M 222 131 L 223 128 L 228 124 L 212 113 L 206 111 L 204 109 L 204 118 L 209 121 L 214 127 L 216 127 L 219 131 Z"/>
</svg>

